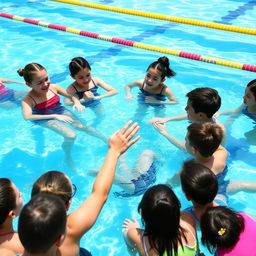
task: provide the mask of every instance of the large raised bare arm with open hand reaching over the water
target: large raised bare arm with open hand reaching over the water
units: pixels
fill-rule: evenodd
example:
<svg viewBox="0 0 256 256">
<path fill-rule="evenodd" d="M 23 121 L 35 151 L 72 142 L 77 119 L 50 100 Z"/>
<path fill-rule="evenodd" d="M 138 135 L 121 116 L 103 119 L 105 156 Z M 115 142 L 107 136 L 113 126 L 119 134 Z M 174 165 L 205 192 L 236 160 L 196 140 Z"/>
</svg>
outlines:
<svg viewBox="0 0 256 256">
<path fill-rule="evenodd" d="M 139 126 L 134 123 L 129 128 L 131 124 L 132 121 L 129 121 L 121 130 L 116 131 L 110 137 L 109 150 L 96 177 L 91 195 L 68 217 L 68 233 L 71 234 L 74 241 L 78 242 L 97 220 L 111 189 L 118 158 L 139 140 L 139 136 L 132 139 L 139 130 Z"/>
</svg>

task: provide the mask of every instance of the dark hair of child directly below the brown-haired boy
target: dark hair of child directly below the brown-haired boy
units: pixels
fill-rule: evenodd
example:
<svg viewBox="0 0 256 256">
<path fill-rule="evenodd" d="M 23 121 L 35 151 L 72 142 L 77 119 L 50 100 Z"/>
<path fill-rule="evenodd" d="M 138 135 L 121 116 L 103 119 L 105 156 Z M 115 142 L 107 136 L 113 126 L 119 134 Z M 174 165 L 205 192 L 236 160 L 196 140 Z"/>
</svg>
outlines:
<svg viewBox="0 0 256 256">
<path fill-rule="evenodd" d="M 180 181 L 183 192 L 200 205 L 211 203 L 218 191 L 215 174 L 195 160 L 183 163 Z"/>
</svg>

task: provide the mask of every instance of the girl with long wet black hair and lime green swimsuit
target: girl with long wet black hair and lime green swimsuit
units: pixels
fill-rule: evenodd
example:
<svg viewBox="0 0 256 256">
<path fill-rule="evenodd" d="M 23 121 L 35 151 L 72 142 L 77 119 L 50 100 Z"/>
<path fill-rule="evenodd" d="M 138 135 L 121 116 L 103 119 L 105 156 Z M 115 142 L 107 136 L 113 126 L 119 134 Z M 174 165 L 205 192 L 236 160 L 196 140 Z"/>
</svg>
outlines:
<svg viewBox="0 0 256 256">
<path fill-rule="evenodd" d="M 137 220 L 125 219 L 124 239 L 131 255 L 194 256 L 197 254 L 195 222 L 180 212 L 180 202 L 167 185 L 149 188 L 138 206 L 144 229 Z"/>
</svg>

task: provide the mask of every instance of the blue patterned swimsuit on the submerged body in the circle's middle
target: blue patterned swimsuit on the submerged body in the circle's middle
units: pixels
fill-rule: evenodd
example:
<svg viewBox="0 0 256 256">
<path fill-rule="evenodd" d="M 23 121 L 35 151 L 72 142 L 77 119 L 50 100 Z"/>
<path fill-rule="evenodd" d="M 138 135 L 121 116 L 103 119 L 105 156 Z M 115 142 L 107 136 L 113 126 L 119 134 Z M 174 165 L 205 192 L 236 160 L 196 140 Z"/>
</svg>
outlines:
<svg viewBox="0 0 256 256">
<path fill-rule="evenodd" d="M 131 197 L 131 196 L 140 196 L 142 195 L 150 185 L 156 181 L 156 163 L 153 162 L 149 167 L 148 171 L 141 174 L 138 178 L 132 179 L 131 183 L 134 184 L 134 192 L 127 193 L 125 191 L 114 192 L 116 197 Z"/>
</svg>

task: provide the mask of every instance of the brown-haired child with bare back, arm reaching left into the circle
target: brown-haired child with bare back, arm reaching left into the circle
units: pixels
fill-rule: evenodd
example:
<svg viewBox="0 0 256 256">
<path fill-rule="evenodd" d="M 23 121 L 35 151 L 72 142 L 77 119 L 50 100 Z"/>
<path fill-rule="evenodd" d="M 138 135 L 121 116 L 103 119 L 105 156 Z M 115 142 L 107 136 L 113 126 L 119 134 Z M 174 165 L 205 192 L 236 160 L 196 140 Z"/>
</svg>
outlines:
<svg viewBox="0 0 256 256">
<path fill-rule="evenodd" d="M 187 128 L 186 143 L 169 134 L 165 124 L 155 123 L 154 127 L 173 145 L 194 156 L 197 163 L 208 167 L 216 175 L 219 184 L 218 194 L 225 194 L 227 190 L 229 193 L 256 191 L 256 182 L 231 182 L 225 179 L 228 171 L 226 165 L 228 152 L 220 145 L 223 140 L 223 130 L 217 124 L 192 123 Z M 179 182 L 179 173 L 175 174 L 169 182 Z"/>
</svg>

